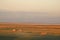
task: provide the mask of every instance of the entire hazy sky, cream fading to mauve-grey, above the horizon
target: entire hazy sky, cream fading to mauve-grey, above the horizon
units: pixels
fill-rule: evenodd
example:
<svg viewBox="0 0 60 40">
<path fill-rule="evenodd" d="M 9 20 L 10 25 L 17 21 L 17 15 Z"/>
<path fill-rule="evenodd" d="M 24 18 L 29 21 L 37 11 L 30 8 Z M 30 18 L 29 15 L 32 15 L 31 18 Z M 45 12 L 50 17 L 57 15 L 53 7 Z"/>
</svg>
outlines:
<svg viewBox="0 0 60 40">
<path fill-rule="evenodd" d="M 0 0 L 0 22 L 60 24 L 60 0 Z"/>
</svg>

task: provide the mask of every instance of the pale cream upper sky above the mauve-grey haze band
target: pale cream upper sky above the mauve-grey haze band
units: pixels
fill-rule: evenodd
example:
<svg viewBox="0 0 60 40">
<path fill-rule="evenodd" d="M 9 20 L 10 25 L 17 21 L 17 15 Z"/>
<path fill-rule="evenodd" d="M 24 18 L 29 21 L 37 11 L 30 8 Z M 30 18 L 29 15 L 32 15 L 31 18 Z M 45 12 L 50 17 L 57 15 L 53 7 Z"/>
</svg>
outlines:
<svg viewBox="0 0 60 40">
<path fill-rule="evenodd" d="M 0 0 L 0 9 L 10 11 L 59 11 L 60 0 Z"/>
</svg>

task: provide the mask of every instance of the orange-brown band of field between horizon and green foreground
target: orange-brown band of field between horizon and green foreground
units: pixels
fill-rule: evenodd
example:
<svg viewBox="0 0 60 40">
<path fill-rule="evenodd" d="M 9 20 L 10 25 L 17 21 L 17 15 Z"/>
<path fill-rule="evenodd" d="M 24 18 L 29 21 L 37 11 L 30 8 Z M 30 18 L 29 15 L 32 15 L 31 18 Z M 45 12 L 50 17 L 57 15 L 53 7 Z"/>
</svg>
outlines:
<svg viewBox="0 0 60 40">
<path fill-rule="evenodd" d="M 6 28 L 10 28 L 6 29 Z M 0 33 L 32 32 L 41 35 L 60 35 L 60 25 L 0 23 Z"/>
</svg>

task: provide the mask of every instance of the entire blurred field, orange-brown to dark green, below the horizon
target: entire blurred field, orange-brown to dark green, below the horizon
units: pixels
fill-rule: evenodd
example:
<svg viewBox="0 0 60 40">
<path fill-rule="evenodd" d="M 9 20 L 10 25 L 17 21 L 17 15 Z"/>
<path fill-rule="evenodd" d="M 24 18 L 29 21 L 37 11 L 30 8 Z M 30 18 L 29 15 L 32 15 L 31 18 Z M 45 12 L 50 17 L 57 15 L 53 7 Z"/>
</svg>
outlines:
<svg viewBox="0 0 60 40">
<path fill-rule="evenodd" d="M 60 25 L 0 23 L 0 40 L 60 40 Z"/>
</svg>

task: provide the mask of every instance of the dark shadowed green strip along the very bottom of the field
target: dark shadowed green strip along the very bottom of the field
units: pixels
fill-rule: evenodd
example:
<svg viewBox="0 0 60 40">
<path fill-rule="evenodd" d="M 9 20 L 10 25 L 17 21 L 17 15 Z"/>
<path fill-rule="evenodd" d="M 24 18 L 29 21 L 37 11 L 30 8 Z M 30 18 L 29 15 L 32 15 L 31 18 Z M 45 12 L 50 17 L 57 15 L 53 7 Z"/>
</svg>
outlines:
<svg viewBox="0 0 60 40">
<path fill-rule="evenodd" d="M 26 35 L 25 35 L 26 36 Z M 41 35 L 32 35 L 30 37 L 25 36 L 0 36 L 0 40 L 60 40 L 60 36 L 41 36 Z"/>
</svg>

